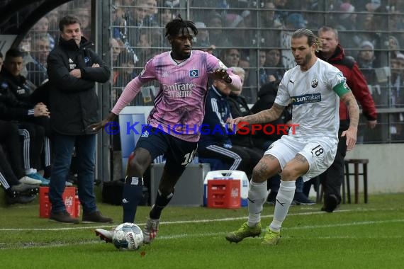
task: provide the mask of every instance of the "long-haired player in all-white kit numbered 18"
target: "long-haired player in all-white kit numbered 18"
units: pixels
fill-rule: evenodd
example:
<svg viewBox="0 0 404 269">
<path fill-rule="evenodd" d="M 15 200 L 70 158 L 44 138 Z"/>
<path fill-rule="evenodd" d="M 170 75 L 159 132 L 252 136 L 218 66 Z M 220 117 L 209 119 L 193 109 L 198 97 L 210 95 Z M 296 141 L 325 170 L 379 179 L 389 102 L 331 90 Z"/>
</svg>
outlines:
<svg viewBox="0 0 404 269">
<path fill-rule="evenodd" d="M 266 229 L 262 244 L 278 244 L 281 224 L 286 218 L 295 193 L 296 178 L 307 181 L 325 171 L 335 158 L 338 143 L 339 103 L 347 105 L 351 122 L 342 133 L 347 149 L 357 142 L 359 108 L 342 72 L 315 57 L 318 38 L 308 29 L 298 29 L 291 38 L 296 67 L 286 71 L 274 105 L 254 115 L 231 120 L 263 123 L 279 118 L 289 102 L 293 104 L 292 122 L 298 125 L 289 135 L 271 144 L 254 167 L 248 193 L 248 219 L 237 231 L 226 235 L 238 243 L 261 234 L 261 212 L 267 191 L 266 179 L 281 173 L 281 186 L 276 196 L 274 219 Z"/>
</svg>

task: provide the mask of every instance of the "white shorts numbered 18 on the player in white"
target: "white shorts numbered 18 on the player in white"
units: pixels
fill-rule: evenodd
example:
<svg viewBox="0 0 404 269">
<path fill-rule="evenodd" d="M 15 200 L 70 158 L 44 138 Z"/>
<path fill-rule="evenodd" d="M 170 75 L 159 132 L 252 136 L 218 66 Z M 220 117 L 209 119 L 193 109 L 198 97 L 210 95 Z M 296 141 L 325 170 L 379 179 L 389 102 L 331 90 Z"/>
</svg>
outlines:
<svg viewBox="0 0 404 269">
<path fill-rule="evenodd" d="M 335 154 L 337 154 L 337 145 L 338 140 L 330 139 L 330 137 L 313 137 L 303 142 L 293 135 L 284 135 L 272 143 L 264 155 L 269 154 L 278 159 L 283 170 L 296 154 L 301 154 L 308 160 L 309 168 L 307 173 L 303 175 L 303 181 L 308 181 L 331 166 Z"/>
</svg>

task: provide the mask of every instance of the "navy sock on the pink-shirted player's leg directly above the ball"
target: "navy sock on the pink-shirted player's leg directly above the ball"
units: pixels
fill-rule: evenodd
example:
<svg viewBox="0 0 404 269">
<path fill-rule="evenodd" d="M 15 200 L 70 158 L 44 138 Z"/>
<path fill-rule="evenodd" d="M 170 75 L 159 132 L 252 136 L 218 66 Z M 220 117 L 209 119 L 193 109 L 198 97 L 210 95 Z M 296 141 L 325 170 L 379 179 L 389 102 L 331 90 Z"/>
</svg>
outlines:
<svg viewBox="0 0 404 269">
<path fill-rule="evenodd" d="M 123 222 L 135 222 L 136 210 L 140 200 L 142 200 L 143 180 L 138 181 L 135 185 L 132 177 L 125 178 L 125 185 L 123 185 L 122 194 L 122 207 L 123 207 Z"/>
</svg>

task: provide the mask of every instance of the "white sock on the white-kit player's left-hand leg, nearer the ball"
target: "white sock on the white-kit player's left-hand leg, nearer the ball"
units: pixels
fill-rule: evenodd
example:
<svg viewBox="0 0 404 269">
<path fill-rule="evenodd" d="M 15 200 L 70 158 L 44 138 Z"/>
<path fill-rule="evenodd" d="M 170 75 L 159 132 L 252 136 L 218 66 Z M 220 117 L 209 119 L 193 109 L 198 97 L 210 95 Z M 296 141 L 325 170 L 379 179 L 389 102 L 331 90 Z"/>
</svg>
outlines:
<svg viewBox="0 0 404 269">
<path fill-rule="evenodd" d="M 249 182 L 248 190 L 248 221 L 249 227 L 254 227 L 261 221 L 262 205 L 264 205 L 268 190 L 266 190 L 266 181 L 257 183 Z"/>
</svg>

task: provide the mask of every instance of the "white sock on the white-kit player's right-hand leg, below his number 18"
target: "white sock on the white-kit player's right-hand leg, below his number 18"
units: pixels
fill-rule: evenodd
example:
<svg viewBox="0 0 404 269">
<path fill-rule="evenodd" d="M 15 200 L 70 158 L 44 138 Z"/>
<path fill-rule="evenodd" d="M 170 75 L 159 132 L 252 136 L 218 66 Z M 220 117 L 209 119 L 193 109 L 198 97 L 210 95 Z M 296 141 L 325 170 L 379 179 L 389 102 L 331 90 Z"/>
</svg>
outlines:
<svg viewBox="0 0 404 269">
<path fill-rule="evenodd" d="M 271 231 L 281 231 L 282 222 L 284 222 L 289 207 L 291 207 L 295 189 L 296 181 L 281 181 L 278 195 L 276 195 L 274 219 L 269 225 Z"/>
</svg>

